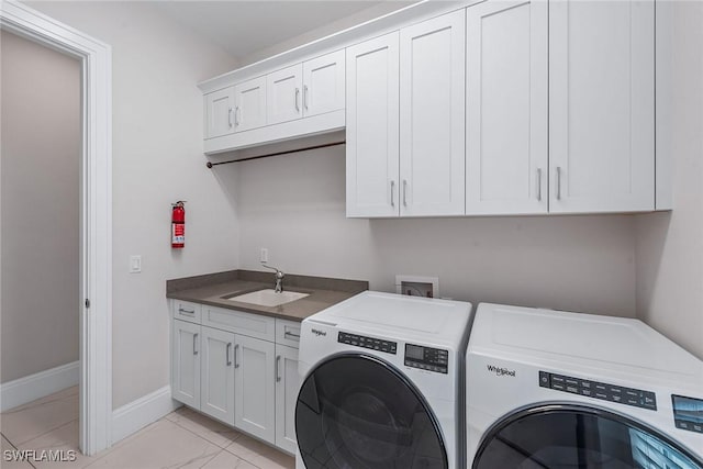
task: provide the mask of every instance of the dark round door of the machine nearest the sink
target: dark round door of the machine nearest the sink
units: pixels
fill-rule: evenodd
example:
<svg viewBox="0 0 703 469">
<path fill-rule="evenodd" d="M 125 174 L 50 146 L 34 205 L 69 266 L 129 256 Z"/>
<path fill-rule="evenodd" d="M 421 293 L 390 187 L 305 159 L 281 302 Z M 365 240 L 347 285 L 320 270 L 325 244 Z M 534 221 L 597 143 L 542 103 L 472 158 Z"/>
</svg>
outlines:
<svg viewBox="0 0 703 469">
<path fill-rule="evenodd" d="M 334 356 L 302 383 L 295 435 L 306 469 L 447 469 L 439 425 L 415 386 L 365 354 Z"/>
</svg>

